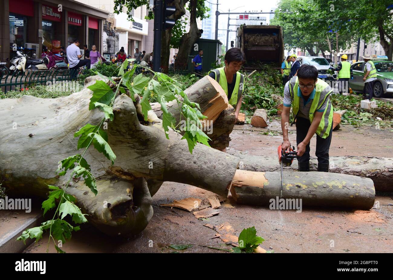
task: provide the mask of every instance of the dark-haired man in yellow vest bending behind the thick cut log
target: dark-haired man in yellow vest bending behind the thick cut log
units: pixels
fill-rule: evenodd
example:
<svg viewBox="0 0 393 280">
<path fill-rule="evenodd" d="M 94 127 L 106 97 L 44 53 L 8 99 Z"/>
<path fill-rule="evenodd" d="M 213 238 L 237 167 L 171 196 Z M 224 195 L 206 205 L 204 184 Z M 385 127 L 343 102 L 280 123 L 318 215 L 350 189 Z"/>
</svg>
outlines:
<svg viewBox="0 0 393 280">
<path fill-rule="evenodd" d="M 229 104 L 235 108 L 236 121 L 242 105 L 244 91 L 244 75 L 239 73 L 239 70 L 245 61 L 246 55 L 241 49 L 230 48 L 224 57 L 225 67 L 209 71 L 209 76 L 220 84 L 228 96 Z"/>
</svg>

